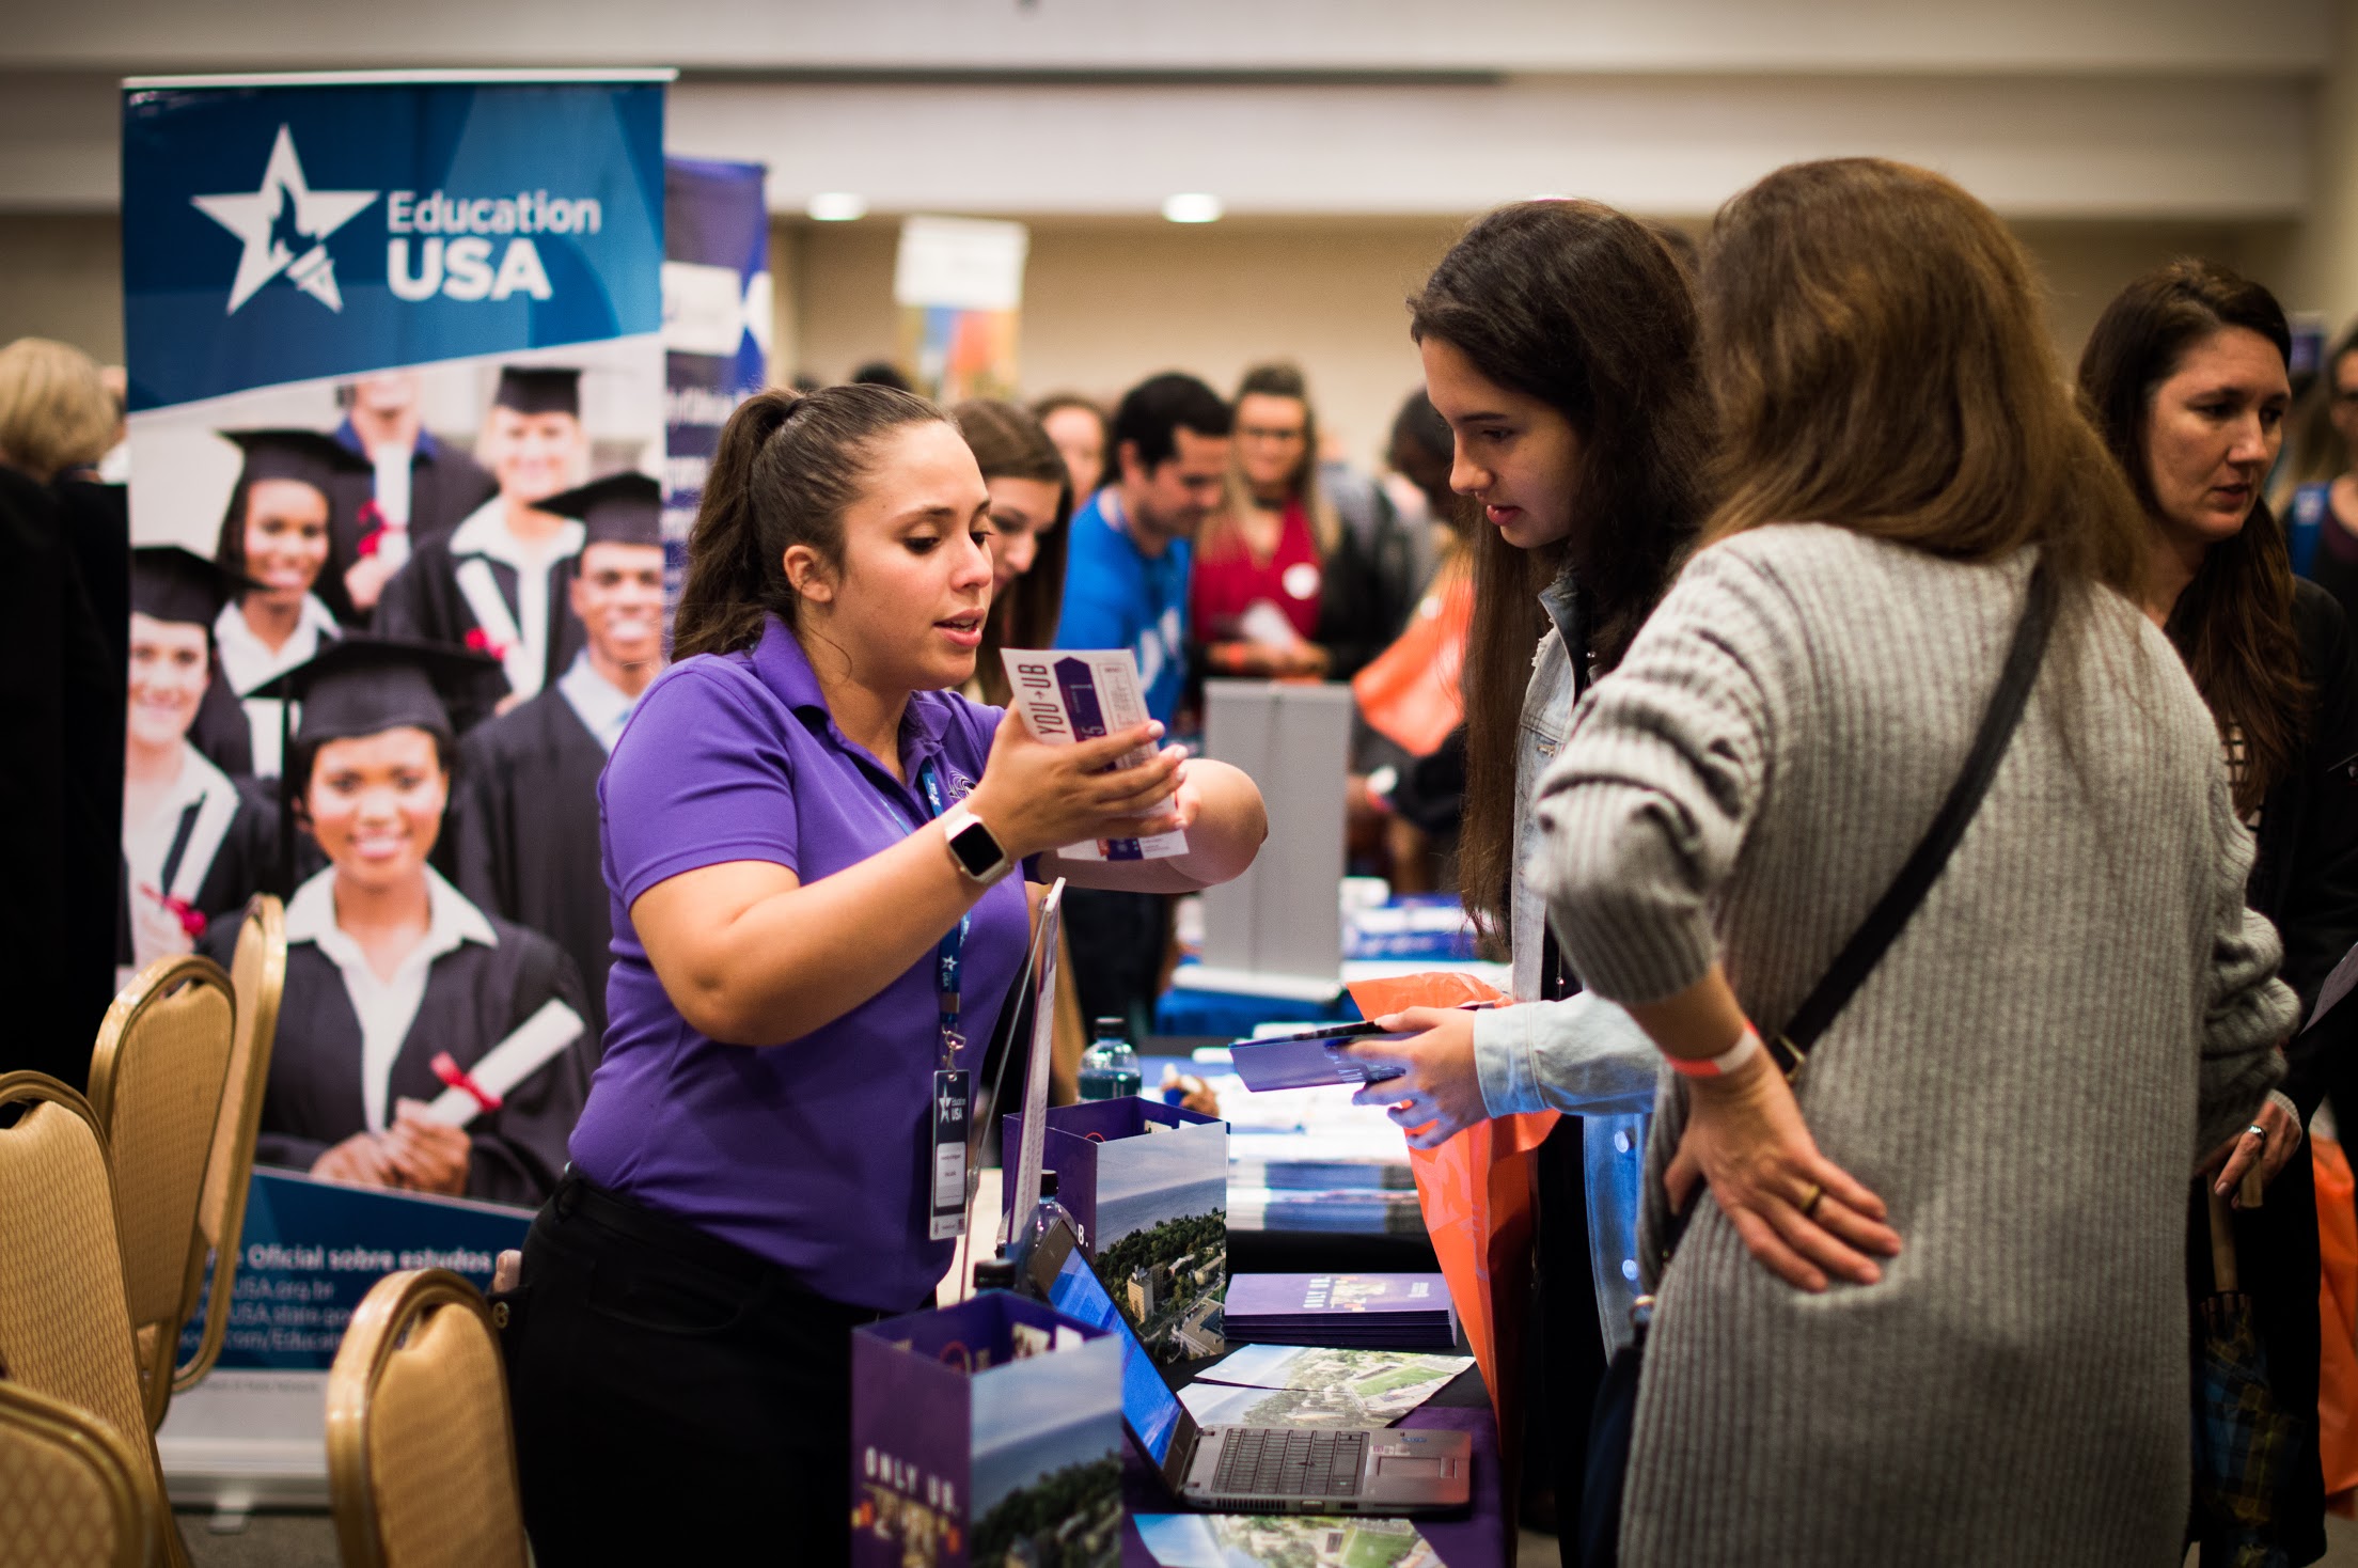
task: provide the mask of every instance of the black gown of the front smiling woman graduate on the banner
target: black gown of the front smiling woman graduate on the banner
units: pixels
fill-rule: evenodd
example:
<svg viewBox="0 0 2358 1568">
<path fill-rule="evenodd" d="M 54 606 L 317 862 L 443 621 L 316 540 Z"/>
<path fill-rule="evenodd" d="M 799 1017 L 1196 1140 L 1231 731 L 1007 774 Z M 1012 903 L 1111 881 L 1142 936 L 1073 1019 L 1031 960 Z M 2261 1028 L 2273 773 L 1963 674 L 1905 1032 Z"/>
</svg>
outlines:
<svg viewBox="0 0 2358 1568">
<path fill-rule="evenodd" d="M 486 920 L 500 938 L 495 948 L 460 943 L 427 969 L 417 1016 L 394 1056 L 387 1106 L 399 1099 L 436 1099 L 443 1092 L 432 1066 L 436 1052 L 450 1052 L 457 1066 L 472 1068 L 552 997 L 582 1019 L 590 1016 L 573 960 L 556 943 L 498 915 Z M 205 934 L 205 950 L 229 962 L 238 924 L 215 924 Z M 469 1198 L 531 1207 L 554 1191 L 566 1167 L 566 1139 L 590 1096 L 594 1059 L 594 1035 L 585 1030 L 509 1089 L 498 1111 L 476 1118 L 467 1129 Z M 361 1132 L 365 1118 L 361 1016 L 344 990 L 344 974 L 316 943 L 290 943 L 255 1160 L 309 1172 L 330 1144 Z"/>
</svg>

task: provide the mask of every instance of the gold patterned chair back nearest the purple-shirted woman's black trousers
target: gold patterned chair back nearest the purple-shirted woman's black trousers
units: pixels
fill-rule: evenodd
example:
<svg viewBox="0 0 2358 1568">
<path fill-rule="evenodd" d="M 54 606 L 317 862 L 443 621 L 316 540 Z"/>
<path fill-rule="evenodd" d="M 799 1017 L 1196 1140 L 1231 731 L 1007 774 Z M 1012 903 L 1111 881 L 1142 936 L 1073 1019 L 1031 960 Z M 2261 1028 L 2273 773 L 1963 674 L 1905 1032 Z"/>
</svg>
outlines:
<svg viewBox="0 0 2358 1568">
<path fill-rule="evenodd" d="M 523 1568 L 523 1502 L 490 1311 L 448 1269 L 389 1273 L 328 1372 L 344 1568 Z"/>
</svg>

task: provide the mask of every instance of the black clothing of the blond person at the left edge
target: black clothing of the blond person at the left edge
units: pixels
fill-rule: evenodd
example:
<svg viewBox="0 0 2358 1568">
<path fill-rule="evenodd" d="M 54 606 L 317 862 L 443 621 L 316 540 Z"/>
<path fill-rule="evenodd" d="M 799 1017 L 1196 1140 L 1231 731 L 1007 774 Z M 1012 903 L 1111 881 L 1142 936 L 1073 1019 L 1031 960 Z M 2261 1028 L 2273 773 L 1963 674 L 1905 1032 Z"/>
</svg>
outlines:
<svg viewBox="0 0 2358 1568">
<path fill-rule="evenodd" d="M 116 993 L 108 882 L 123 842 L 120 639 L 92 599 L 130 592 L 125 575 L 94 594 L 78 554 L 59 498 L 0 465 L 0 625 L 14 651 L 0 660 L 0 1070 L 73 1087 Z"/>
</svg>

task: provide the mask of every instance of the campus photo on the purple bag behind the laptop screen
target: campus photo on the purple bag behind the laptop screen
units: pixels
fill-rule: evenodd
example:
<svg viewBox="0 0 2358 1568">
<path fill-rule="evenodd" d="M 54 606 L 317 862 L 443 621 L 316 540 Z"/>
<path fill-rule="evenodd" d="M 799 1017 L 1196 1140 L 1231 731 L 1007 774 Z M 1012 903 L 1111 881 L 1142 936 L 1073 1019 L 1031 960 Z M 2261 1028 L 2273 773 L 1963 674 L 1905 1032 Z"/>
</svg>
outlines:
<svg viewBox="0 0 2358 1568">
<path fill-rule="evenodd" d="M 1158 1365 L 1229 1349 L 1229 1165 L 1219 1122 L 1106 1144 L 1096 1155 L 1099 1283 Z"/>
</svg>

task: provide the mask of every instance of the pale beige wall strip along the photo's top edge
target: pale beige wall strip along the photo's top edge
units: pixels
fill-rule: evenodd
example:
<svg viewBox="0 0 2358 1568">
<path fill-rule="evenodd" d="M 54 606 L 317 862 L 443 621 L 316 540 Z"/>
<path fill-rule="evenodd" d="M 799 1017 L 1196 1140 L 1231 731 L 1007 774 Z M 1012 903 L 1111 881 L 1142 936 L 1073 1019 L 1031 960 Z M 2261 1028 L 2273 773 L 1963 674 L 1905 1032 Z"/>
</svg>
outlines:
<svg viewBox="0 0 2358 1568">
<path fill-rule="evenodd" d="M 17 5 L 26 68 L 2299 73 L 2332 0 L 104 0 Z"/>
</svg>

